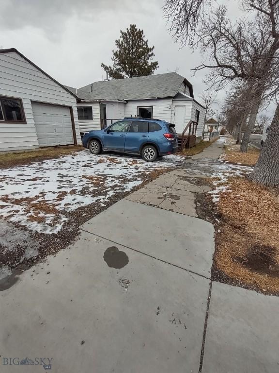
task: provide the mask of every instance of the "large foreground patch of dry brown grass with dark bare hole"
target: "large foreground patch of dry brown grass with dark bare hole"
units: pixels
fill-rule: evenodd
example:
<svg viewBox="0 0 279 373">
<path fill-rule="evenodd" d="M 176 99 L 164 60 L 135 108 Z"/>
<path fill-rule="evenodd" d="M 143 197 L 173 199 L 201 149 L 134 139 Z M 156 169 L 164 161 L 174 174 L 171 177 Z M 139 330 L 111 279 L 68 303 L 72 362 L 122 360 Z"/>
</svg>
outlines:
<svg viewBox="0 0 279 373">
<path fill-rule="evenodd" d="M 222 193 L 216 269 L 248 288 L 279 292 L 279 196 L 243 178 Z"/>
</svg>

